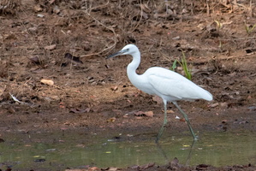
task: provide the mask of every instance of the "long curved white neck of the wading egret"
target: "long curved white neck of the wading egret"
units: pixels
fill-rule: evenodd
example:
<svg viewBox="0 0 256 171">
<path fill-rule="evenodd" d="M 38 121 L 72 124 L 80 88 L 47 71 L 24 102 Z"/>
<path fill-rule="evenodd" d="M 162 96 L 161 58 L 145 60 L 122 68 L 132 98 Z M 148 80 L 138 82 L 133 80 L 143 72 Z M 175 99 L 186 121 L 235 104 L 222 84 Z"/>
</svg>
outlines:
<svg viewBox="0 0 256 171">
<path fill-rule="evenodd" d="M 137 78 L 139 77 L 139 75 L 136 74 L 136 69 L 140 65 L 140 51 L 135 52 L 134 54 L 132 54 L 132 56 L 133 56 L 133 61 L 128 64 L 127 74 L 128 74 L 129 80 L 133 83 L 134 82 L 133 80 L 137 80 Z"/>
</svg>

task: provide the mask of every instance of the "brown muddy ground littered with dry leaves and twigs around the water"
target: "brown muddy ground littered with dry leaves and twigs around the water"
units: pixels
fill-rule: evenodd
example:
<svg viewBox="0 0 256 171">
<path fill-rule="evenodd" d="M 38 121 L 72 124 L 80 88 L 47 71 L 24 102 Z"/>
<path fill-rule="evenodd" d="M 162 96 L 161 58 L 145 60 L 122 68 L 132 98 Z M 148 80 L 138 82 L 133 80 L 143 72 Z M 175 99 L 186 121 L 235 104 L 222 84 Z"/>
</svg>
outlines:
<svg viewBox="0 0 256 171">
<path fill-rule="evenodd" d="M 179 103 L 194 130 L 256 131 L 254 1 L 0 2 L 0 138 L 66 129 L 104 136 L 155 133 L 163 104 L 131 85 L 126 67 L 132 58 L 105 59 L 125 44 L 140 48 L 139 74 L 152 66 L 171 68 L 185 53 L 193 82 L 214 98 Z M 176 72 L 184 74 L 179 65 Z M 169 110 L 164 133 L 189 133 L 175 120 L 177 109 Z"/>
</svg>

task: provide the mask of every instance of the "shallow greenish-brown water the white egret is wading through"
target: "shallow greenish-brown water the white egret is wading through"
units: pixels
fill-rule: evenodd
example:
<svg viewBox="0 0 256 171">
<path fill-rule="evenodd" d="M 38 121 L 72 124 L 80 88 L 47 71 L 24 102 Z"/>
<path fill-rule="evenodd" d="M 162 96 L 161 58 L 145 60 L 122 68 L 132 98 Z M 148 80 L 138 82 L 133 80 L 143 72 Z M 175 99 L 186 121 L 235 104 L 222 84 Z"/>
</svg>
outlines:
<svg viewBox="0 0 256 171">
<path fill-rule="evenodd" d="M 256 135 L 252 133 L 205 133 L 194 144 L 190 135 L 163 137 L 159 145 L 152 138 L 132 142 L 94 136 L 91 137 L 94 143 L 85 143 L 81 139 L 83 135 L 76 133 L 52 136 L 55 139 L 48 143 L 43 140 L 49 139 L 47 134 L 6 137 L 5 142 L 0 143 L 0 168 L 7 165 L 14 169 L 127 168 L 148 162 L 163 165 L 174 157 L 183 165 L 204 163 L 218 167 L 256 163 Z"/>
</svg>

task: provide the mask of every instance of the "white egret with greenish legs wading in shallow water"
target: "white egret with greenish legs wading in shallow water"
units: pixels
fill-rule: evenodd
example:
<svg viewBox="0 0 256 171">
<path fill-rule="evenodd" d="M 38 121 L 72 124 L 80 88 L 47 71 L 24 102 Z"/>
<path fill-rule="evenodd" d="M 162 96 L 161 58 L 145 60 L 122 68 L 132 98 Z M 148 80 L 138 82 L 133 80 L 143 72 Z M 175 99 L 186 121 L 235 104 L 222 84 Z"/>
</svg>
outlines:
<svg viewBox="0 0 256 171">
<path fill-rule="evenodd" d="M 144 74 L 136 74 L 136 69 L 140 65 L 140 50 L 134 44 L 128 44 L 122 48 L 122 50 L 116 52 L 107 58 L 114 56 L 131 55 L 133 56 L 133 61 L 128 64 L 127 74 L 128 79 L 131 83 L 140 89 L 151 95 L 157 95 L 161 97 L 164 102 L 164 124 L 161 127 L 156 143 L 160 139 L 164 127 L 167 124 L 167 102 L 172 102 L 177 109 L 180 110 L 188 123 L 190 132 L 193 135 L 193 139 L 197 140 L 197 136 L 193 133 L 193 129 L 188 120 L 188 115 L 180 108 L 177 104 L 179 100 L 195 100 L 195 99 L 205 99 L 207 101 L 212 100 L 212 95 L 210 92 L 205 91 L 199 85 L 195 85 L 192 81 L 186 79 L 181 74 L 177 74 L 166 68 L 153 67 L 148 68 Z"/>
</svg>

